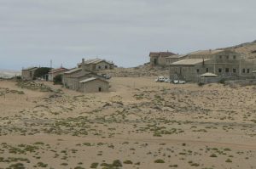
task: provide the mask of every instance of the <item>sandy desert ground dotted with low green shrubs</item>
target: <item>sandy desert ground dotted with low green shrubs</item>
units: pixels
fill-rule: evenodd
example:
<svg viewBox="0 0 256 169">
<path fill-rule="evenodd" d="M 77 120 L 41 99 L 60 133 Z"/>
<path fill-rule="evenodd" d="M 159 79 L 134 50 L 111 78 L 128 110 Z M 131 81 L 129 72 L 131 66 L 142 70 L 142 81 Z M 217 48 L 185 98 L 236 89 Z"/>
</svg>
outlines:
<svg viewBox="0 0 256 169">
<path fill-rule="evenodd" d="M 0 168 L 256 168 L 256 87 L 110 82 L 0 81 Z"/>
</svg>

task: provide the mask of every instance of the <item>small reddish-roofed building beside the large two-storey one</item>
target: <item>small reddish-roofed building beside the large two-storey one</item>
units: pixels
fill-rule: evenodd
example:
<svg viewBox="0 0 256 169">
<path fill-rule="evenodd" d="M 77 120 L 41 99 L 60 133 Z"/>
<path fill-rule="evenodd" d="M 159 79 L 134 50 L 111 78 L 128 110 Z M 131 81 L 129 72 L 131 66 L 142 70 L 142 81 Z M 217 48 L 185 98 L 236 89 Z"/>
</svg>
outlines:
<svg viewBox="0 0 256 169">
<path fill-rule="evenodd" d="M 150 57 L 150 65 L 151 66 L 167 66 L 167 58 L 171 56 L 175 56 L 177 54 L 173 54 L 172 52 L 151 52 L 149 54 Z M 170 59 L 169 59 L 170 60 Z"/>
</svg>

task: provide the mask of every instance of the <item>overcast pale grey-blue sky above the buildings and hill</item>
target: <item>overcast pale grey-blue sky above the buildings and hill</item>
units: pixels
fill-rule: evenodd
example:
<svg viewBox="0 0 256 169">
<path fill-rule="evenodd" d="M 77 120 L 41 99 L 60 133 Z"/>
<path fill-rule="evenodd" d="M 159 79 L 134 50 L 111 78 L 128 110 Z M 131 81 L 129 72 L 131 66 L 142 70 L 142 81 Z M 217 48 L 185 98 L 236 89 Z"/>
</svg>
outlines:
<svg viewBox="0 0 256 169">
<path fill-rule="evenodd" d="M 256 40 L 255 0 L 1 0 L 0 70 L 101 58 L 143 65 Z"/>
</svg>

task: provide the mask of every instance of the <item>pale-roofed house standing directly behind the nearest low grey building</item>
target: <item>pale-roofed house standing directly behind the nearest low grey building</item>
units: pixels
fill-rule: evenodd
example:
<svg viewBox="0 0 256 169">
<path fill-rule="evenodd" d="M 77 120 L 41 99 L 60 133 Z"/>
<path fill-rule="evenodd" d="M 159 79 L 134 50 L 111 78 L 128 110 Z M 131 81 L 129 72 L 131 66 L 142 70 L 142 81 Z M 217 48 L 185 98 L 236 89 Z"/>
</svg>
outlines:
<svg viewBox="0 0 256 169">
<path fill-rule="evenodd" d="M 109 62 L 105 59 L 88 59 L 84 60 L 84 69 L 90 71 L 98 71 L 98 70 L 112 70 L 114 68 L 113 62 Z M 83 62 L 82 61 L 82 62 Z M 78 64 L 79 68 L 81 68 L 83 63 Z"/>
</svg>

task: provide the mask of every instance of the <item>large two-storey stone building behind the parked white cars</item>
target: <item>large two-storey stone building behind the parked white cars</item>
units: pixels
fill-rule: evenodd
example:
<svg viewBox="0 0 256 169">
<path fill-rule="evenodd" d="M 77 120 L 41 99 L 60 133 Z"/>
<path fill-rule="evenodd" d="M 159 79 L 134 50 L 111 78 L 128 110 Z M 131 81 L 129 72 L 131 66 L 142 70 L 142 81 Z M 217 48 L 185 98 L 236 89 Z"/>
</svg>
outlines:
<svg viewBox="0 0 256 169">
<path fill-rule="evenodd" d="M 247 61 L 241 54 L 230 50 L 199 55 L 188 54 L 187 59 L 179 60 L 169 66 L 172 78 L 183 79 L 187 82 L 197 82 L 198 78 L 207 72 L 229 77 L 253 76 L 253 70 L 256 70 L 256 62 Z"/>
</svg>

